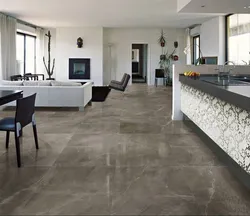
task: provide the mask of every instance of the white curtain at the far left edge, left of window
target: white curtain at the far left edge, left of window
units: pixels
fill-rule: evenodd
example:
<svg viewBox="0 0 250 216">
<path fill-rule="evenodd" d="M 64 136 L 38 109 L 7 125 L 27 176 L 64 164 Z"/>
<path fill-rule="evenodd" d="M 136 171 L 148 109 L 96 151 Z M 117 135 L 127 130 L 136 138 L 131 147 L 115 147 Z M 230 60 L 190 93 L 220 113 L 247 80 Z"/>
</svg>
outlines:
<svg viewBox="0 0 250 216">
<path fill-rule="evenodd" d="M 16 74 L 16 19 L 0 14 L 1 79 L 9 80 Z"/>
</svg>

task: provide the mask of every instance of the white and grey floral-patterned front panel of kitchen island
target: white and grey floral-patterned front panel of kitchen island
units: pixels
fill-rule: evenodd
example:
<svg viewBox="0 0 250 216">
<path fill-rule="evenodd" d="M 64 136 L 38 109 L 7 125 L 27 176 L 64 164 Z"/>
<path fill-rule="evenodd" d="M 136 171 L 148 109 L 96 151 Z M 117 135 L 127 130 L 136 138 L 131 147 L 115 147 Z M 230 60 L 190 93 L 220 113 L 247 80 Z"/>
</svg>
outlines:
<svg viewBox="0 0 250 216">
<path fill-rule="evenodd" d="M 250 174 L 250 112 L 189 85 L 181 111 Z"/>
</svg>

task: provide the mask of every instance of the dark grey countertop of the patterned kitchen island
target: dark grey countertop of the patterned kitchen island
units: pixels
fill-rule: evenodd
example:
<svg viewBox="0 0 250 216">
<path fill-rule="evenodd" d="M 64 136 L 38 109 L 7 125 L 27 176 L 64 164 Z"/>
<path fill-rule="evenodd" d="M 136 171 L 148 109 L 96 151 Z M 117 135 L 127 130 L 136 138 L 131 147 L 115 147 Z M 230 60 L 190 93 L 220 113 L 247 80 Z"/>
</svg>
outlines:
<svg viewBox="0 0 250 216">
<path fill-rule="evenodd" d="M 220 86 L 207 82 L 211 77 L 215 76 L 217 75 L 201 75 L 199 78 L 191 78 L 181 74 L 179 81 L 184 85 L 191 86 L 225 102 L 250 111 L 250 83 L 249 85 L 242 86 Z"/>
</svg>

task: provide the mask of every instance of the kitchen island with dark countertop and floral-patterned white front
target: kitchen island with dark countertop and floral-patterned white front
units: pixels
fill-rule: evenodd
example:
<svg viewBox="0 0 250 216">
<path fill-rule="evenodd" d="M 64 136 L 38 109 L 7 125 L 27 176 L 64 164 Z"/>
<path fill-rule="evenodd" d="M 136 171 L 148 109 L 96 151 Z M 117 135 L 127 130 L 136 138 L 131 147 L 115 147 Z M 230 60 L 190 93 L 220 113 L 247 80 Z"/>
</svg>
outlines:
<svg viewBox="0 0 250 216">
<path fill-rule="evenodd" d="M 179 76 L 181 111 L 250 188 L 250 83 L 216 84 L 217 75 Z"/>
</svg>

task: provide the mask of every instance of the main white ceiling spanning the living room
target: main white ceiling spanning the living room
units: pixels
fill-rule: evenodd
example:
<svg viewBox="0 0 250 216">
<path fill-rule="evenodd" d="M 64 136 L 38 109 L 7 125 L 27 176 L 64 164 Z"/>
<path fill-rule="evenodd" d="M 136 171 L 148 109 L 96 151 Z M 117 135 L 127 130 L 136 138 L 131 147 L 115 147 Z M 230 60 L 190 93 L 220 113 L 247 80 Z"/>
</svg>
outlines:
<svg viewBox="0 0 250 216">
<path fill-rule="evenodd" d="M 0 0 L 0 11 L 42 27 L 184 28 L 214 16 L 178 14 L 177 0 Z"/>
</svg>

